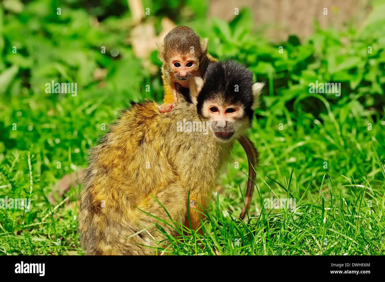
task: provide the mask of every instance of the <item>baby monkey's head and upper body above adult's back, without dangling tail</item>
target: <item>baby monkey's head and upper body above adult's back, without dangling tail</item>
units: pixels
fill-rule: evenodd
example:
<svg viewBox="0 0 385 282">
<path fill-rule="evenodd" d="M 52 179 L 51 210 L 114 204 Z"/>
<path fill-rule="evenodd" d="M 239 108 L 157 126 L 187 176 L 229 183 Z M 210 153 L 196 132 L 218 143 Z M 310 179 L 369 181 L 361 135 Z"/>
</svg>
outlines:
<svg viewBox="0 0 385 282">
<path fill-rule="evenodd" d="M 190 88 L 194 77 L 203 77 L 210 62 L 216 62 L 207 53 L 208 38 L 201 38 L 185 26 L 173 28 L 162 43 L 158 44 L 158 57 L 162 64 L 162 81 L 164 87 L 161 113 L 171 111 L 177 103 L 176 92 L 180 88 Z"/>
</svg>

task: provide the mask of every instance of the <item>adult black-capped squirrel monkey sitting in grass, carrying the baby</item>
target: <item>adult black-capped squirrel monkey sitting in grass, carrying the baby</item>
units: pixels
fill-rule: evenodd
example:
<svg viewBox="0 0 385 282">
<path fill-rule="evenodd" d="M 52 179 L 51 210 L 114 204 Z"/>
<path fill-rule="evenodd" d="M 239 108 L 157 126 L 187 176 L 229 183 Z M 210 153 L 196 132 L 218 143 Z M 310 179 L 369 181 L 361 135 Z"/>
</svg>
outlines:
<svg viewBox="0 0 385 282">
<path fill-rule="evenodd" d="M 208 208 L 231 147 L 251 125 L 262 85 L 233 61 L 210 63 L 204 80 L 194 81 L 194 102 L 177 93 L 168 114 L 155 102 L 132 103 L 91 150 L 78 217 L 87 255 L 155 254 L 167 246 L 160 227 L 179 235 L 159 219 L 198 228 L 199 205 Z M 178 130 L 185 120 L 207 122 L 208 134 Z"/>
</svg>

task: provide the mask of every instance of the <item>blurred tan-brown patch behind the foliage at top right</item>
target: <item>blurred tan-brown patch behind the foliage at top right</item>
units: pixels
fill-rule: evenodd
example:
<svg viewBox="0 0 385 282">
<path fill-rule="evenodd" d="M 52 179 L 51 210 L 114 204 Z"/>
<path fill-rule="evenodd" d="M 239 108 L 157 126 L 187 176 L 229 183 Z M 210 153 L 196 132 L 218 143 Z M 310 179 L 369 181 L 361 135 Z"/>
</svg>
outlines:
<svg viewBox="0 0 385 282">
<path fill-rule="evenodd" d="M 344 28 L 346 23 L 359 27 L 371 10 L 369 0 L 211 0 L 208 15 L 231 20 L 234 8 L 242 7 L 251 8 L 254 28 L 270 40 L 286 40 L 290 34 L 305 38 L 315 21 L 323 28 Z"/>
</svg>

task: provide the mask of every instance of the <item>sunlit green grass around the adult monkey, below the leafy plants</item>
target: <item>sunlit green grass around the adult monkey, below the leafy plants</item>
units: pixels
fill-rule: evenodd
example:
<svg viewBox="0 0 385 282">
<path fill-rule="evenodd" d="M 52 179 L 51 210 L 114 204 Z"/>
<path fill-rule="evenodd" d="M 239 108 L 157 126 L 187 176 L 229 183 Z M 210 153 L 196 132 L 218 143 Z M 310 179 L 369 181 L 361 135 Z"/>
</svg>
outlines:
<svg viewBox="0 0 385 282">
<path fill-rule="evenodd" d="M 45 146 L 40 147 L 36 142 L 29 150 L 7 150 L 2 157 L 2 197 L 32 199 L 30 212 L 0 209 L 0 251 L 3 254 L 83 254 L 78 244 L 75 218 L 80 186 L 73 187 L 65 195 L 66 200 L 58 202 L 57 206 L 50 205 L 46 200 L 56 179 L 85 165 L 83 158 L 87 143 L 75 137 L 68 138 L 74 130 L 67 132 L 67 127 L 86 123 L 87 118 L 82 111 L 87 111 L 87 108 L 73 107 L 71 99 L 70 96 L 67 101 L 63 99 L 60 107 L 79 113 L 79 120 L 47 133 L 53 140 L 60 138 L 59 144 L 53 142 L 50 147 L 47 140 L 42 140 Z M 15 105 L 12 107 L 2 105 L 2 110 L 9 112 L 11 108 L 24 107 L 27 112 L 30 108 L 28 99 L 13 102 Z M 89 103 L 88 108 L 92 105 Z M 373 122 L 370 111 L 358 115 L 352 105 L 355 103 L 346 103 L 330 115 L 325 113 L 322 122 L 316 122 L 314 117 L 303 112 L 291 113 L 288 116 L 290 119 L 282 120 L 269 112 L 258 111 L 261 118 L 254 121 L 249 134 L 259 150 L 258 176 L 249 221 L 236 220 L 242 207 L 240 191 L 245 192 L 247 180 L 246 156 L 237 144 L 233 150 L 233 162 L 219 181 L 224 191 L 218 194 L 217 202 L 209 210 L 209 222 L 204 224 L 204 249 L 198 246 L 199 240 L 194 242 L 199 238 L 198 234 L 184 234 L 186 242 L 183 244 L 176 244 L 168 238 L 172 242 L 172 252 L 213 254 L 214 250 L 219 250 L 221 254 L 383 254 L 385 170 L 376 152 L 380 152 L 383 158 L 384 125 L 380 121 Z M 99 111 L 109 112 L 110 116 L 113 112 L 105 104 L 99 106 Z M 39 110 L 30 113 L 37 114 Z M 65 115 L 58 114 L 48 119 L 51 125 L 55 122 L 68 123 Z M 283 130 L 278 129 L 279 123 L 284 124 Z M 368 123 L 373 124 L 372 130 L 367 130 Z M 311 128 L 310 124 L 314 127 Z M 22 142 L 23 136 L 27 138 L 25 135 L 32 135 L 34 131 L 44 132 L 46 128 L 47 124 L 42 121 L 35 123 L 30 132 L 20 125 L 16 132 L 9 133 L 10 137 L 15 134 L 17 142 Z M 102 130 L 95 130 L 93 142 L 96 136 L 103 133 Z M 65 143 L 63 147 L 62 143 Z M 76 148 L 80 149 L 79 153 L 74 152 Z M 60 158 L 62 169 L 57 169 L 57 159 L 48 160 L 49 154 L 63 154 Z M 327 169 L 323 168 L 324 161 L 328 163 Z M 239 169 L 234 168 L 234 162 L 239 162 Z M 30 173 L 33 184 L 29 196 Z M 296 199 L 295 212 L 290 209 L 265 209 L 263 199 L 271 195 L 278 198 L 290 198 L 292 195 Z M 236 244 L 237 239 L 239 245 Z M 60 245 L 57 245 L 58 240 Z"/>
</svg>

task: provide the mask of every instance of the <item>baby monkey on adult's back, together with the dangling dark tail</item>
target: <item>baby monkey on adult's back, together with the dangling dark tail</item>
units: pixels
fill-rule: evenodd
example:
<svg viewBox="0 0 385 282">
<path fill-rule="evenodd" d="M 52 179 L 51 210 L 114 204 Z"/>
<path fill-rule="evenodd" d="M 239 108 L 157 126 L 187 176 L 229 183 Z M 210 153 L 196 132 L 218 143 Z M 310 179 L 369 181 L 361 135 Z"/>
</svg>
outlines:
<svg viewBox="0 0 385 282">
<path fill-rule="evenodd" d="M 162 43 L 158 44 L 158 57 L 162 64 L 162 81 L 164 87 L 163 104 L 159 106 L 159 112 L 170 112 L 177 103 L 177 91 L 186 93 L 185 90 L 191 88 L 195 77 L 203 77 L 206 73 L 208 64 L 217 62 L 207 53 L 208 38 L 201 38 L 186 26 L 173 28 Z M 193 85 L 192 88 L 195 88 Z M 185 95 L 190 102 L 196 99 L 194 91 Z M 254 167 L 258 160 L 258 152 L 248 137 L 239 139 L 246 155 L 249 156 L 249 179 L 246 194 L 244 195 L 244 206 L 241 212 L 241 219 L 246 215 L 246 209 L 251 201 L 251 194 L 254 187 L 255 171 Z M 252 157 L 251 157 L 252 156 Z"/>
</svg>

